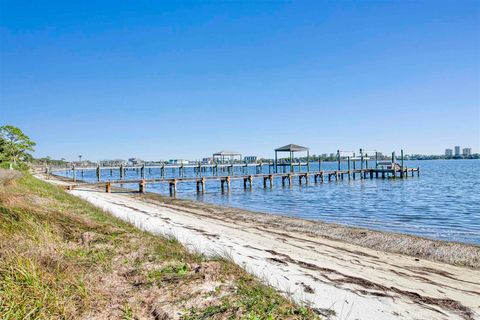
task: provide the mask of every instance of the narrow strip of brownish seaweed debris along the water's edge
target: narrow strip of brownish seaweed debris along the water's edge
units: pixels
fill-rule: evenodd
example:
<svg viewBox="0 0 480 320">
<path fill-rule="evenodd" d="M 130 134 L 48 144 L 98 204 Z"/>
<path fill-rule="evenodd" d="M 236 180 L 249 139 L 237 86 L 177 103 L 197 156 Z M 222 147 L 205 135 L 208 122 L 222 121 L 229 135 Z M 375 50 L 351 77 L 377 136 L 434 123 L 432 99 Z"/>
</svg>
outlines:
<svg viewBox="0 0 480 320">
<path fill-rule="evenodd" d="M 37 174 L 37 177 L 47 180 L 44 174 Z M 71 179 L 57 175 L 50 176 L 48 181 L 65 185 L 72 183 Z M 78 182 L 82 181 L 77 180 L 77 183 Z M 100 190 L 100 188 L 98 188 L 98 190 Z M 374 230 L 365 227 L 324 222 L 321 220 L 291 217 L 285 214 L 221 206 L 203 201 L 163 196 L 153 192 L 138 193 L 122 187 L 112 187 L 112 191 L 128 193 L 135 198 L 153 201 L 159 205 L 176 210 L 186 212 L 193 210 L 192 212 L 197 214 L 207 211 L 221 216 L 228 215 L 229 218 L 239 221 L 253 219 L 257 223 L 263 223 L 285 231 L 301 232 L 309 236 L 320 236 L 369 249 L 404 254 L 414 258 L 448 263 L 455 266 L 480 269 L 480 245 L 473 243 L 431 239 L 407 233 Z"/>
</svg>

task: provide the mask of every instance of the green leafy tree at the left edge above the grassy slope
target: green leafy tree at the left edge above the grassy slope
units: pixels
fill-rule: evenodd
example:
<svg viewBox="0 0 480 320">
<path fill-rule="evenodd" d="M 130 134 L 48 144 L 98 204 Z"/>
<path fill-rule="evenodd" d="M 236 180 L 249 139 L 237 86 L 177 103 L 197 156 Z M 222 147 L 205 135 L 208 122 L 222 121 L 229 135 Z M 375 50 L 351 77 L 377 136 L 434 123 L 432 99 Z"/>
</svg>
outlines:
<svg viewBox="0 0 480 320">
<path fill-rule="evenodd" d="M 6 125 L 0 127 L 0 162 L 29 161 L 32 156 L 28 151 L 34 151 L 35 142 L 17 127 Z"/>
</svg>

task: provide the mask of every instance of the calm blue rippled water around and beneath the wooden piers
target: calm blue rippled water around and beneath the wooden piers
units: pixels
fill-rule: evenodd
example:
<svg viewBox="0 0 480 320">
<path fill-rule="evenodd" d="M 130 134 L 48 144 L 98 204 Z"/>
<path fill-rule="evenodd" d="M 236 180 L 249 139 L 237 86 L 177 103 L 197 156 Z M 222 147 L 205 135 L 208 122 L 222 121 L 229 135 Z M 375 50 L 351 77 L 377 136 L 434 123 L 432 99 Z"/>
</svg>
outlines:
<svg viewBox="0 0 480 320">
<path fill-rule="evenodd" d="M 234 180 L 230 193 L 223 194 L 218 180 L 207 180 L 205 194 L 197 195 L 195 183 L 179 183 L 177 197 L 480 244 L 480 160 L 409 161 L 407 165 L 420 166 L 420 177 L 397 180 L 357 178 L 317 185 L 311 182 L 308 186 L 299 186 L 298 179 L 294 179 L 292 187 L 282 187 L 278 178 L 272 189 L 264 189 L 263 180 L 257 179 L 252 190 L 243 189 L 243 180 Z M 334 163 L 324 163 L 323 169 L 334 169 L 335 166 Z M 249 170 L 253 173 L 254 168 Z M 318 165 L 312 165 L 312 170 L 318 170 Z M 146 169 L 145 172 L 147 179 L 160 175 L 159 169 L 151 169 L 151 172 Z M 266 167 L 264 172 L 268 172 Z M 173 173 L 168 171 L 166 174 Z M 195 175 L 193 170 L 185 173 L 185 176 L 192 175 Z M 129 178 L 138 179 L 137 172 L 127 171 L 126 179 Z M 112 176 L 105 170 L 102 179 L 118 179 L 118 170 Z M 96 181 L 95 171 L 85 172 L 84 180 Z M 138 188 L 137 185 L 124 186 Z M 168 185 L 148 185 L 147 190 L 167 195 Z"/>
</svg>

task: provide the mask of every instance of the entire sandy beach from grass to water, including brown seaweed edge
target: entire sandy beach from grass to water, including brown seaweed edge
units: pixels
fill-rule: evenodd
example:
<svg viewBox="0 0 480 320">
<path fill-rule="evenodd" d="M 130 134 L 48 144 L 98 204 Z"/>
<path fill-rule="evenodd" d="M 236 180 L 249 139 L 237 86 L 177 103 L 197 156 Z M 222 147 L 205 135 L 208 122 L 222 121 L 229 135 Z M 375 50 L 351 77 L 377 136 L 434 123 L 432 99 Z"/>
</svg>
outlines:
<svg viewBox="0 0 480 320">
<path fill-rule="evenodd" d="M 480 318 L 477 246 L 150 194 L 89 187 L 71 193 L 138 228 L 173 236 L 190 250 L 227 256 L 332 319 Z M 418 252 L 394 252 L 415 243 Z"/>
</svg>

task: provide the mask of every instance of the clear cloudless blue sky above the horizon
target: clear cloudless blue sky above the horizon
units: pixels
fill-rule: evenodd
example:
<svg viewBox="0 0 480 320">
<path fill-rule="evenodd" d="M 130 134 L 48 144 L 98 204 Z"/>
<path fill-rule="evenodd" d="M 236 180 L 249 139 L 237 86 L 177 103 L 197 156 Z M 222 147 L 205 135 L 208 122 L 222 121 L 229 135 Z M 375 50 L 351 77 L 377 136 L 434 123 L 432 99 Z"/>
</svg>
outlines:
<svg viewBox="0 0 480 320">
<path fill-rule="evenodd" d="M 480 150 L 480 2 L 0 0 L 36 156 Z"/>
</svg>

